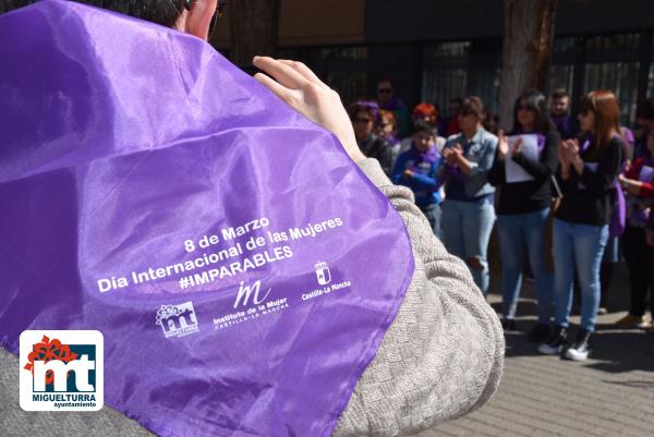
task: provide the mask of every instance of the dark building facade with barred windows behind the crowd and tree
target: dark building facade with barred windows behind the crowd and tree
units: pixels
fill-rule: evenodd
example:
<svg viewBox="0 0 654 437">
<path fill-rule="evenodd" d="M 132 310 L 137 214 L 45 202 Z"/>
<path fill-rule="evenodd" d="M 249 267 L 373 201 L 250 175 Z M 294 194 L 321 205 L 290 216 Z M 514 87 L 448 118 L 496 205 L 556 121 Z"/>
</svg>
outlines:
<svg viewBox="0 0 654 437">
<path fill-rule="evenodd" d="M 447 108 L 477 95 L 497 108 L 502 0 L 282 0 L 281 56 L 307 63 L 348 102 L 374 97 L 390 77 L 409 105 Z M 229 29 L 215 46 L 229 53 Z M 622 123 L 654 97 L 654 1 L 559 0 L 547 89 L 566 88 L 577 102 L 611 89 Z"/>
</svg>

